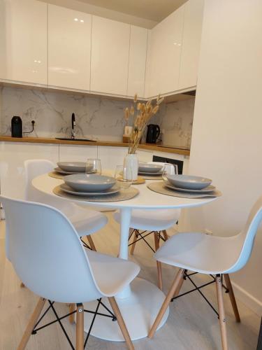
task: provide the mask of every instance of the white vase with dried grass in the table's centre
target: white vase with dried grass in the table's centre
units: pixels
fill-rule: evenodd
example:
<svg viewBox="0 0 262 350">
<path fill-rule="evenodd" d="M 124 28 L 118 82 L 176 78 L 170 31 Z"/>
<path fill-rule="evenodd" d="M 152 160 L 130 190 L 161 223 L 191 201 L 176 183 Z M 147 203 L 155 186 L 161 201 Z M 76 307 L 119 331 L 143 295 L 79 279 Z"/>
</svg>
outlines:
<svg viewBox="0 0 262 350">
<path fill-rule="evenodd" d="M 138 102 L 138 95 L 133 98 L 133 105 L 124 110 L 124 118 L 127 124 L 133 125 L 133 131 L 129 139 L 129 153 L 124 158 L 124 167 L 126 167 L 126 177 L 129 180 L 136 181 L 138 179 L 138 156 L 136 150 L 141 138 L 145 132 L 145 127 L 150 118 L 159 110 L 159 104 L 163 102 L 163 97 L 158 96 L 156 104 L 152 104 L 152 99 L 147 103 Z M 131 123 L 130 123 L 131 120 Z"/>
</svg>

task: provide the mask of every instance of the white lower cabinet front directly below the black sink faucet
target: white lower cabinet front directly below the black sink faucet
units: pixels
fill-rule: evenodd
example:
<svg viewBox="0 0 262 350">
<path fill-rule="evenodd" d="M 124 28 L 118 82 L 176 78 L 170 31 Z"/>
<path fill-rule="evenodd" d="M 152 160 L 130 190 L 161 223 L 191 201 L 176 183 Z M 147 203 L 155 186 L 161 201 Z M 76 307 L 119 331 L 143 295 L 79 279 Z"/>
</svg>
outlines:
<svg viewBox="0 0 262 350">
<path fill-rule="evenodd" d="M 97 158 L 97 146 L 59 145 L 59 162 L 86 162 L 87 158 Z"/>
</svg>

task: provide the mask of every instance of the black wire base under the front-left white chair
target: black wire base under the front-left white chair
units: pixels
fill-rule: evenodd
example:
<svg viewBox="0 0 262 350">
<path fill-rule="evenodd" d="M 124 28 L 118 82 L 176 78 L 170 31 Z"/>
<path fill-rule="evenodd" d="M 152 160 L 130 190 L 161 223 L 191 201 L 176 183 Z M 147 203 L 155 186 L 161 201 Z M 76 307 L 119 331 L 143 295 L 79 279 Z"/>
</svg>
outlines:
<svg viewBox="0 0 262 350">
<path fill-rule="evenodd" d="M 105 317 L 110 317 L 112 318 L 112 321 L 117 321 L 117 318 L 115 316 L 115 314 L 112 313 L 112 311 L 110 309 L 108 309 L 108 307 L 103 304 L 103 302 L 101 301 L 101 298 L 97 300 L 97 305 L 96 305 L 96 311 L 90 311 L 90 310 L 86 310 L 84 309 L 83 311 L 84 312 L 87 312 L 89 314 L 93 314 L 93 318 L 92 318 L 92 322 L 91 322 L 91 325 L 89 327 L 89 330 L 87 332 L 87 337 L 85 339 L 85 344 L 84 344 L 84 349 L 85 349 L 85 346 L 87 345 L 87 340 L 89 338 L 89 335 L 91 333 L 91 330 L 93 328 L 93 325 L 94 325 L 94 321 L 96 319 L 96 316 L 99 315 L 99 316 L 105 316 Z M 71 316 L 73 314 L 76 313 L 76 310 L 75 311 L 72 311 L 72 312 L 69 312 L 68 314 L 64 315 L 64 316 L 61 316 L 59 317 L 58 314 L 57 314 L 57 311 L 54 309 L 54 302 L 51 302 L 50 300 L 48 300 L 49 302 L 49 307 L 45 310 L 45 312 L 43 313 L 43 315 L 41 316 L 41 318 L 38 319 L 36 325 L 34 326 L 34 330 L 32 330 L 31 334 L 32 335 L 36 335 L 36 333 L 38 332 L 38 330 L 42 330 L 43 328 L 45 327 L 48 327 L 49 325 L 52 325 L 54 323 L 59 323 L 60 327 L 61 327 L 61 330 L 64 332 L 64 335 L 66 336 L 66 339 L 68 340 L 68 343 L 69 345 L 71 346 L 71 349 L 75 350 L 72 342 L 71 342 L 71 339 L 69 338 L 65 328 L 64 328 L 64 325 L 61 323 L 61 320 L 63 320 L 64 318 L 68 317 L 68 316 Z M 108 314 L 103 314 L 101 312 L 99 312 L 99 307 L 102 306 L 106 311 L 108 311 Z M 43 320 L 43 318 L 45 317 L 45 315 L 48 313 L 48 311 L 52 309 L 53 313 L 54 313 L 54 316 L 55 316 L 55 320 L 54 321 L 51 321 L 51 322 L 48 322 L 48 323 L 45 323 L 45 325 L 41 325 L 41 327 L 38 327 L 38 324 Z"/>
</svg>

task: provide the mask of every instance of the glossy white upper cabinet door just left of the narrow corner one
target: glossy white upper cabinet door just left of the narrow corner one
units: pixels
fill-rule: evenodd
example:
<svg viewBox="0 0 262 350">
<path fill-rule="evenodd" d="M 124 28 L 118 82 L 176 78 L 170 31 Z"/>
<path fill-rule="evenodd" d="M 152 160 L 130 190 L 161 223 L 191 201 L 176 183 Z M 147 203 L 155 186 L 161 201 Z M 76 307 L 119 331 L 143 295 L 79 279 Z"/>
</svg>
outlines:
<svg viewBox="0 0 262 350">
<path fill-rule="evenodd" d="M 130 25 L 92 16 L 91 91 L 126 95 L 129 37 Z"/>
</svg>

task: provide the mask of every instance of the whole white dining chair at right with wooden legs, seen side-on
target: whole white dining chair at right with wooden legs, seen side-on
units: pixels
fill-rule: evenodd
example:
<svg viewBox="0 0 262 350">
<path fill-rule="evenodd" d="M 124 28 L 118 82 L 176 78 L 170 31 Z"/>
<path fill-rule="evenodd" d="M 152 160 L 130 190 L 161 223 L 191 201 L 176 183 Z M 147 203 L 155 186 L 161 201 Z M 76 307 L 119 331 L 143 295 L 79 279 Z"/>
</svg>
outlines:
<svg viewBox="0 0 262 350">
<path fill-rule="evenodd" d="M 168 295 L 164 300 L 159 314 L 149 332 L 154 336 L 157 326 L 166 311 L 173 295 L 177 295 L 184 281 L 187 270 L 201 274 L 215 275 L 217 286 L 217 301 L 219 308 L 219 325 L 221 341 L 224 350 L 228 349 L 226 337 L 226 316 L 224 311 L 222 279 L 224 277 L 229 297 L 235 314 L 240 322 L 238 307 L 231 285 L 229 274 L 242 269 L 252 253 L 254 238 L 262 221 L 262 196 L 257 200 L 249 214 L 244 230 L 231 237 L 210 236 L 204 233 L 180 233 L 168 239 L 154 255 L 159 262 L 179 268 Z"/>
</svg>

